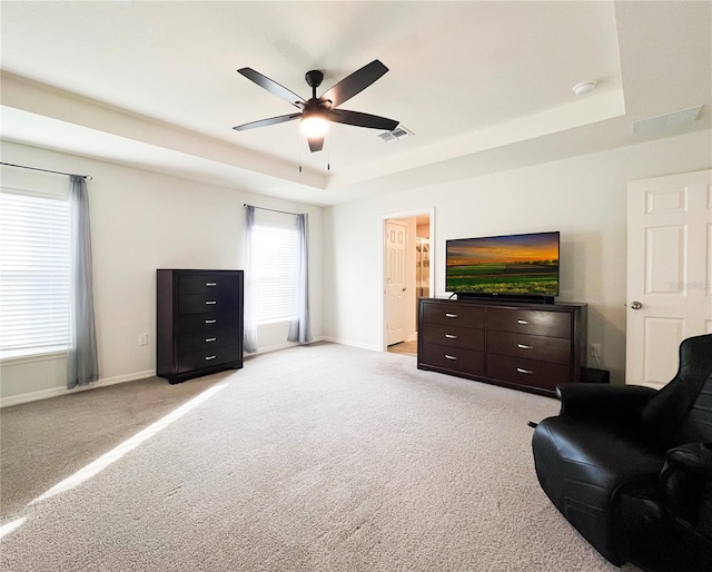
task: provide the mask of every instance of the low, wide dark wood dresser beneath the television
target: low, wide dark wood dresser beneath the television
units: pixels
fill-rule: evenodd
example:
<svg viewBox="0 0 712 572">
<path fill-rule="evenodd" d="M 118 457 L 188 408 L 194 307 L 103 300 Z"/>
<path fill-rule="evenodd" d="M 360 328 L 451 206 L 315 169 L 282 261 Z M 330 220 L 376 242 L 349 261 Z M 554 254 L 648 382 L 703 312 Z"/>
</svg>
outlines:
<svg viewBox="0 0 712 572">
<path fill-rule="evenodd" d="M 554 395 L 581 381 L 585 349 L 585 304 L 419 300 L 419 369 Z"/>
</svg>

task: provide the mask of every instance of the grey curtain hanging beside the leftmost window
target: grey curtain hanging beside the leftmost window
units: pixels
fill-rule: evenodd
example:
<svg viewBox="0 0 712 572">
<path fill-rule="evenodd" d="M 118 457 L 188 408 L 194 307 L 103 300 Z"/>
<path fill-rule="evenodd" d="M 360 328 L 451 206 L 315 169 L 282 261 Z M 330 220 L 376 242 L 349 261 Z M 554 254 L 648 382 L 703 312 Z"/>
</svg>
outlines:
<svg viewBox="0 0 712 572">
<path fill-rule="evenodd" d="M 89 197 L 85 177 L 70 176 L 71 226 L 70 344 L 67 352 L 67 388 L 99 378 L 97 334 L 91 284 L 91 233 Z"/>
</svg>

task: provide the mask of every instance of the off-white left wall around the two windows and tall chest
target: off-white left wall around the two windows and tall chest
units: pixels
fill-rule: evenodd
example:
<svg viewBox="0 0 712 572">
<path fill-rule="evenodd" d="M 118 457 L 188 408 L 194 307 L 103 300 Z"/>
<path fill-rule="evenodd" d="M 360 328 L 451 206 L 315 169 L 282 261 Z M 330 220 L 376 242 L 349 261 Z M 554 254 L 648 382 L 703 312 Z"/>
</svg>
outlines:
<svg viewBox="0 0 712 572">
<path fill-rule="evenodd" d="M 308 213 L 312 333 L 322 336 L 320 207 L 7 141 L 1 149 L 6 162 L 93 177 L 88 189 L 99 384 L 155 374 L 157 268 L 241 268 L 245 203 Z M 286 344 L 286 332 L 259 332 L 259 349 Z M 148 333 L 147 346 L 138 345 L 140 333 Z M 3 405 L 65 391 L 62 357 L 6 361 L 0 374 Z"/>
</svg>

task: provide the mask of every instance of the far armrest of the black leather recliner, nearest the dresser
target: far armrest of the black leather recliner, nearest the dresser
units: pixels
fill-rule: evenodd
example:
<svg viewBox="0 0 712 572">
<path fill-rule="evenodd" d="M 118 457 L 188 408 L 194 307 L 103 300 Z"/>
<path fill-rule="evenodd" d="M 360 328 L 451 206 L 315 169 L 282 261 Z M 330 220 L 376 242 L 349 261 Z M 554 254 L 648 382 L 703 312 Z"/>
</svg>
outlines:
<svg viewBox="0 0 712 572">
<path fill-rule="evenodd" d="M 642 385 L 567 383 L 556 386 L 560 415 L 631 421 L 642 404 L 657 392 Z"/>
</svg>

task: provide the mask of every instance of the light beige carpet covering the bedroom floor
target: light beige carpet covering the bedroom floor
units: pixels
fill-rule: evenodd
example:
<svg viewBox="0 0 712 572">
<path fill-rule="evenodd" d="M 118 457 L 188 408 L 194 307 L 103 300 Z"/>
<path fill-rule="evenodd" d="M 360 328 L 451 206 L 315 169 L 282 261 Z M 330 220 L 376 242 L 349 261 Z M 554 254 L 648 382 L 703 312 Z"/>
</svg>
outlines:
<svg viewBox="0 0 712 572">
<path fill-rule="evenodd" d="M 617 570 L 537 484 L 526 423 L 557 410 L 336 344 L 18 405 L 0 568 Z"/>
</svg>

